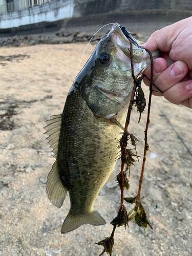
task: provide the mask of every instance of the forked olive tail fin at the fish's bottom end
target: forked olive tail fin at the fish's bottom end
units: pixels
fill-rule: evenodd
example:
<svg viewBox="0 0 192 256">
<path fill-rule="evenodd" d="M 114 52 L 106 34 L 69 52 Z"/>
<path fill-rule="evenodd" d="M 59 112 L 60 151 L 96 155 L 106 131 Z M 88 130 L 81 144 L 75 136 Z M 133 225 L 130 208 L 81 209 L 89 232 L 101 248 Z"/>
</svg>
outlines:
<svg viewBox="0 0 192 256">
<path fill-rule="evenodd" d="M 63 222 L 61 233 L 70 232 L 83 224 L 91 224 L 95 226 L 106 224 L 105 220 L 100 216 L 99 212 L 93 210 L 89 215 L 72 215 L 71 210 Z"/>
</svg>

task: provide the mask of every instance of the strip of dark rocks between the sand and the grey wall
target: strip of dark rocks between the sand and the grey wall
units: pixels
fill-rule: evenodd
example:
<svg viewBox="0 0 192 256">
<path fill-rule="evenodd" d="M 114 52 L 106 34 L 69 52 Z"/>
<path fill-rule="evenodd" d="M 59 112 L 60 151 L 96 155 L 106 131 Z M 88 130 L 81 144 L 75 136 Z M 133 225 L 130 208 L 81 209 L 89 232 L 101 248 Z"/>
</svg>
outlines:
<svg viewBox="0 0 192 256">
<path fill-rule="evenodd" d="M 158 28 L 161 28 L 162 24 L 159 24 Z M 129 25 L 127 26 L 129 27 Z M 86 31 L 87 30 L 87 31 Z M 96 35 L 94 32 L 99 30 Z M 0 47 L 23 47 L 23 46 L 33 46 L 33 45 L 41 45 L 41 44 L 67 44 L 71 42 L 89 42 L 92 38 L 93 41 L 99 41 L 105 34 L 109 33 L 111 30 L 111 25 L 104 26 L 100 28 L 100 26 L 87 26 L 87 27 L 77 27 L 71 29 L 62 29 L 57 32 L 52 33 L 43 33 L 43 34 L 32 34 L 32 35 L 14 35 L 10 37 L 0 37 Z M 93 32 L 94 31 L 94 32 Z M 154 26 L 150 29 L 151 33 L 155 31 Z M 146 39 L 150 36 L 150 33 L 147 31 L 143 31 L 142 29 L 139 32 L 134 32 L 134 29 L 130 31 L 130 33 L 140 41 L 146 41 Z M 25 57 L 25 56 L 5 56 L 4 58 L 8 58 L 8 60 L 12 61 L 14 57 Z M 2 56 L 0 56 L 0 61 L 2 60 Z M 0 62 L 0 65 L 2 63 Z M 6 65 L 6 64 L 5 64 Z"/>
</svg>

